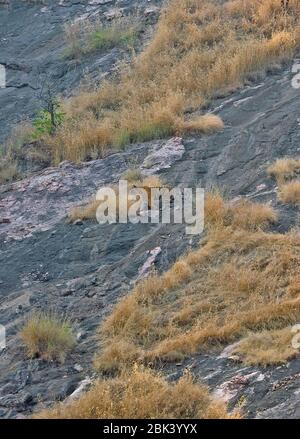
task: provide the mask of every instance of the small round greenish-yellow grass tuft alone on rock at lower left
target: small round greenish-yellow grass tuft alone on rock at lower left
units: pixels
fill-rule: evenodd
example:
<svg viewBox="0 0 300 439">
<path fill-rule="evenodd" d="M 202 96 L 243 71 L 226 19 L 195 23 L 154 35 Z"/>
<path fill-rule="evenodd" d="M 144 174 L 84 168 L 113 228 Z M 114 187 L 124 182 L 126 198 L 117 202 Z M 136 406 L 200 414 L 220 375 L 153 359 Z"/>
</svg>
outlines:
<svg viewBox="0 0 300 439">
<path fill-rule="evenodd" d="M 36 313 L 28 318 L 19 333 L 29 357 L 64 362 L 75 345 L 70 322 L 54 313 Z"/>
</svg>

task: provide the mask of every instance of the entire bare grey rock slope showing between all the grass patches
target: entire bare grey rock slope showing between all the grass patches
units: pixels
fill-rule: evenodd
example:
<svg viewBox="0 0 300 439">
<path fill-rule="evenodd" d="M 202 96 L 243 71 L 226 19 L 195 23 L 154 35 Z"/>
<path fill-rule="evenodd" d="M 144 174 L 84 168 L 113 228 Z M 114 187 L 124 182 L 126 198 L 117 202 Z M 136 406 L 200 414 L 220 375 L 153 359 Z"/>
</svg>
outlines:
<svg viewBox="0 0 300 439">
<path fill-rule="evenodd" d="M 8 72 L 7 87 L 0 89 L 2 140 L 24 116 L 34 115 L 41 75 L 49 74 L 57 92 L 69 95 L 86 74 L 101 81 L 130 56 L 113 48 L 80 63 L 66 60 L 67 20 L 94 15 L 114 20 L 138 8 L 141 39 L 147 40 L 161 2 L 45 3 L 0 5 L 0 63 Z M 0 417 L 29 416 L 89 386 L 103 318 L 138 279 L 153 268 L 165 271 L 199 245 L 199 236 L 186 235 L 184 225 L 67 223 L 74 206 L 100 186 L 117 183 L 131 166 L 159 175 L 171 187 L 219 187 L 233 200 L 268 203 L 278 211 L 271 232 L 299 226 L 298 207 L 277 200 L 277 184 L 267 175 L 277 158 L 299 155 L 300 94 L 291 85 L 292 63 L 273 64 L 245 86 L 215 96 L 208 111 L 224 121 L 221 132 L 138 143 L 77 165 L 64 161 L 0 186 L 0 323 L 7 330 L 7 347 L 0 353 Z M 63 364 L 28 359 L 18 335 L 28 315 L 47 309 L 66 314 L 76 333 L 76 346 Z M 299 358 L 249 366 L 231 352 L 227 344 L 159 368 L 170 381 L 191 370 L 230 409 L 242 406 L 245 417 L 299 417 Z"/>
</svg>

